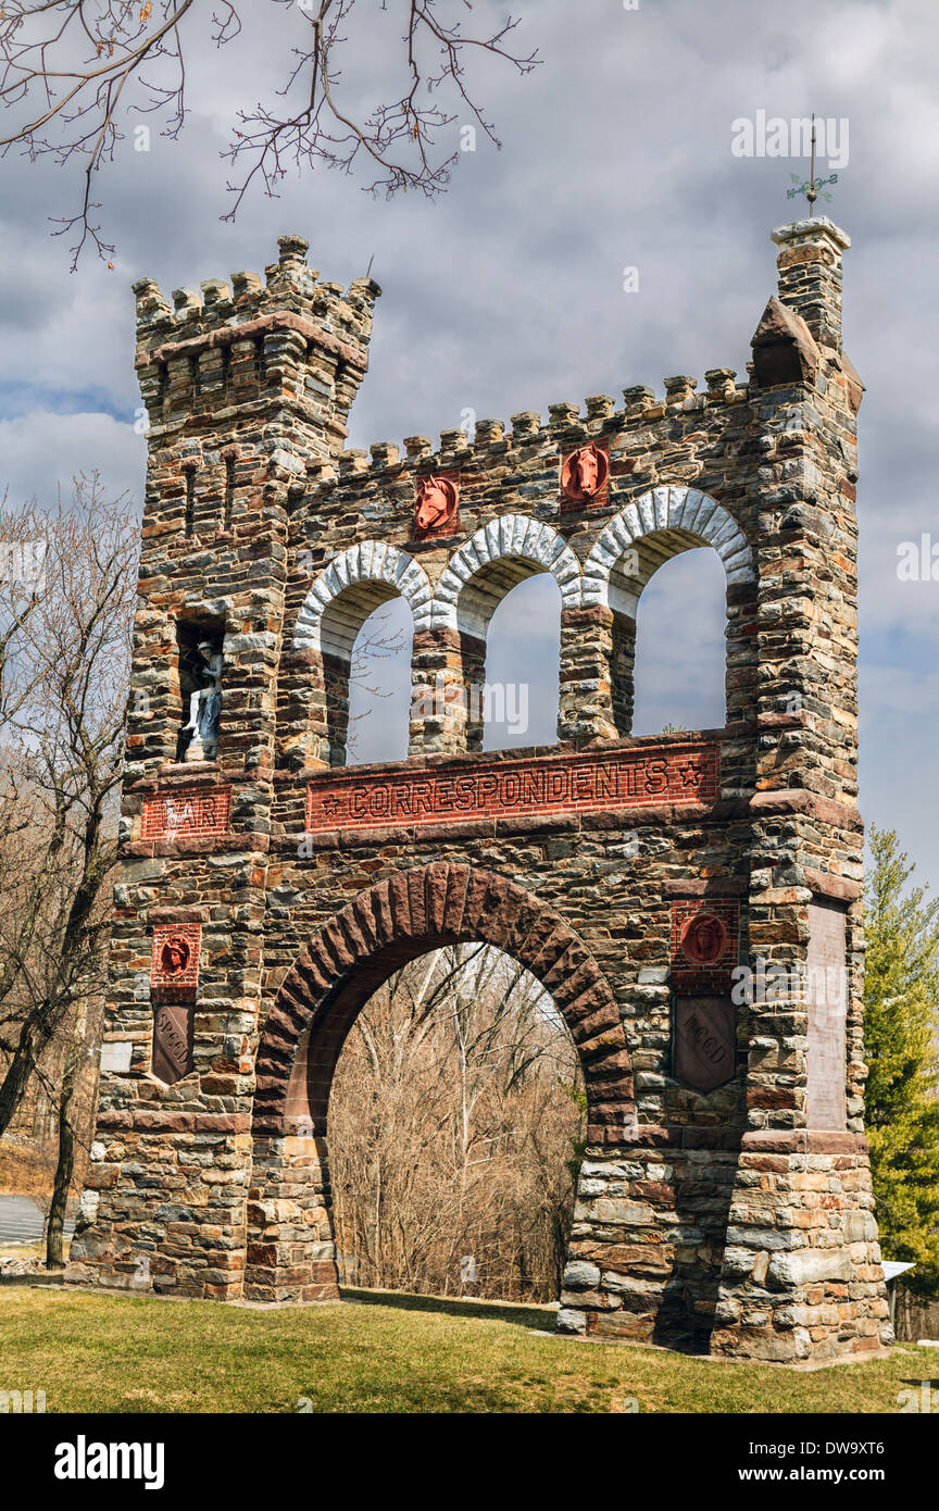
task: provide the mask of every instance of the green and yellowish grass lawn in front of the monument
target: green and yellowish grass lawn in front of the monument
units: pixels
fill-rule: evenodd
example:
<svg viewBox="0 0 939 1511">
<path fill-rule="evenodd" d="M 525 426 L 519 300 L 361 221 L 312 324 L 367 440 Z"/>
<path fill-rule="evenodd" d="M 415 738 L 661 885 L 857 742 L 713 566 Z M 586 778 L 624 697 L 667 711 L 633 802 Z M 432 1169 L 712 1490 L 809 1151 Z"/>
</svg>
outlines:
<svg viewBox="0 0 939 1511">
<path fill-rule="evenodd" d="M 925 1349 L 793 1373 L 540 1336 L 546 1307 L 349 1292 L 263 1312 L 213 1301 L 0 1289 L 0 1389 L 47 1411 L 895 1413 Z"/>
</svg>

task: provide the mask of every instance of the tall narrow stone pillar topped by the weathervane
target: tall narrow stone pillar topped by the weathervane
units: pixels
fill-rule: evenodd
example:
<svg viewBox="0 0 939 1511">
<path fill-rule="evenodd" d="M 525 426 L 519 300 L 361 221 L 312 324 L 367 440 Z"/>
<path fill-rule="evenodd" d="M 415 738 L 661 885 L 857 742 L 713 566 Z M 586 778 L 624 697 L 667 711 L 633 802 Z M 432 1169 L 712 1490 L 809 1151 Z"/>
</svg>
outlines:
<svg viewBox="0 0 939 1511">
<path fill-rule="evenodd" d="M 746 610 L 758 645 L 747 1126 L 711 1351 L 797 1363 L 873 1351 L 891 1330 L 862 1118 L 850 243 L 824 218 L 773 239 L 785 308 L 771 301 L 755 337 L 765 429 L 755 620 Z"/>
</svg>

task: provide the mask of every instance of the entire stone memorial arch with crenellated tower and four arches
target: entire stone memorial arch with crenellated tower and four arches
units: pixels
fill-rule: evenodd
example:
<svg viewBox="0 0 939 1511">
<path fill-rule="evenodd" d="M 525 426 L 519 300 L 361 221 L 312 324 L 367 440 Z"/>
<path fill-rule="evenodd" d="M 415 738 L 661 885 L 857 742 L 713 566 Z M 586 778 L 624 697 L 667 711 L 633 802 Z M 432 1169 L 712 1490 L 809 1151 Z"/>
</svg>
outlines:
<svg viewBox="0 0 939 1511">
<path fill-rule="evenodd" d="M 328 1103 L 405 961 L 551 993 L 587 1150 L 559 1328 L 814 1363 L 889 1340 L 864 1138 L 848 240 L 774 233 L 732 370 L 346 447 L 377 287 L 136 284 L 149 462 L 101 1095 L 69 1278 L 338 1295 Z M 631 734 L 646 582 L 726 577 L 722 728 Z M 504 594 L 551 573 L 557 743 L 485 752 Z M 344 765 L 368 613 L 414 620 L 406 760 Z M 675 624 L 675 636 L 687 633 Z"/>
</svg>

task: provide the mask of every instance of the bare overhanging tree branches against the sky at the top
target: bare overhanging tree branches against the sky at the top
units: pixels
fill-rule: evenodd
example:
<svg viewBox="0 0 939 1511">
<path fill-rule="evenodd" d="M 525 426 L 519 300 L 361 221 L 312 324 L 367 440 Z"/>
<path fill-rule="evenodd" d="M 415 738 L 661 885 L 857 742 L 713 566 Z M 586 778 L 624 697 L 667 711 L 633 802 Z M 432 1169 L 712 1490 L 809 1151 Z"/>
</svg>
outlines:
<svg viewBox="0 0 939 1511">
<path fill-rule="evenodd" d="M 361 54 L 374 17 L 356 0 L 252 0 L 276 5 L 270 24 L 284 33 L 284 85 L 273 100 L 237 112 L 222 157 L 232 168 L 234 218 L 248 189 L 258 183 L 275 195 L 290 168 L 317 165 L 365 172 L 365 187 L 394 193 L 442 190 L 456 160 L 447 128 L 459 104 L 495 145 L 492 122 L 468 89 L 466 59 L 488 53 L 528 73 L 534 53 L 512 50 L 518 24 L 512 17 L 494 29 L 463 30 L 471 0 L 383 0 L 402 17 L 396 74 L 388 95 L 362 104 L 355 71 L 343 63 Z M 59 165 L 77 163 L 82 202 L 57 221 L 74 233 L 72 267 L 92 242 L 106 260 L 95 216 L 94 175 L 113 159 L 128 118 L 152 116 L 162 134 L 178 138 L 187 116 L 186 60 L 199 47 L 236 47 L 246 33 L 245 0 L 5 0 L 0 6 L 0 103 L 11 125 L 0 150 L 21 147 L 30 159 L 48 154 Z M 299 45 L 293 27 L 302 26 Z M 377 92 L 377 86 L 376 86 Z M 383 92 L 383 91 L 382 91 Z"/>
</svg>

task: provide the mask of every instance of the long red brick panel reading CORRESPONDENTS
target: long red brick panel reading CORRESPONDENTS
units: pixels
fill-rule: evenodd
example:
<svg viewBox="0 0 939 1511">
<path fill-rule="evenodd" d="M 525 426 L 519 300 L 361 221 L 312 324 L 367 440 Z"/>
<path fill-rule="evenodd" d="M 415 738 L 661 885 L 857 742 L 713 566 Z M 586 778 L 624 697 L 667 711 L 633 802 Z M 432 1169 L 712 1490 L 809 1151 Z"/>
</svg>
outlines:
<svg viewBox="0 0 939 1511">
<path fill-rule="evenodd" d="M 306 831 L 714 802 L 719 760 L 717 745 L 687 743 L 397 771 L 386 777 L 329 774 L 306 790 Z"/>
</svg>

